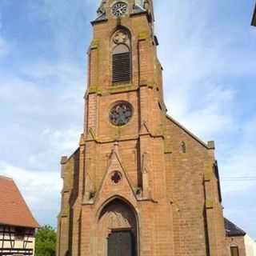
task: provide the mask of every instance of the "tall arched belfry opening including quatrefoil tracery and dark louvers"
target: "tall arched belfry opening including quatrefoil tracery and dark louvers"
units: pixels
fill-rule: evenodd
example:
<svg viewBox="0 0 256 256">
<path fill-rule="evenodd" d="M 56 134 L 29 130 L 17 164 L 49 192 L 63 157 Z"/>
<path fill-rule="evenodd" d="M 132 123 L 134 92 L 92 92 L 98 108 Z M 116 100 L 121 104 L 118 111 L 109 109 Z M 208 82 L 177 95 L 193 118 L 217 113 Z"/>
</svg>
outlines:
<svg viewBox="0 0 256 256">
<path fill-rule="evenodd" d="M 126 30 L 118 30 L 114 34 L 112 51 L 112 82 L 130 82 L 131 54 L 130 36 Z"/>
</svg>

